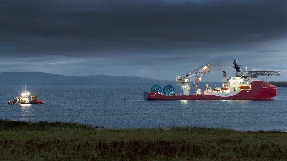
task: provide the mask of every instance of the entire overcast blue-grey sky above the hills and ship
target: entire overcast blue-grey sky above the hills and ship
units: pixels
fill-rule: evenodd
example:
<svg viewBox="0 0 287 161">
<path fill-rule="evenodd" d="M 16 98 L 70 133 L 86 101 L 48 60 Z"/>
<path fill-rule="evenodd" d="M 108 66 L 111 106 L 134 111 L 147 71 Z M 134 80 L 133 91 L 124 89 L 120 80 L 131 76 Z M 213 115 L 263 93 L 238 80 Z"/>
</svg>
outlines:
<svg viewBox="0 0 287 161">
<path fill-rule="evenodd" d="M 174 80 L 232 61 L 287 80 L 287 1 L 1 0 L 0 72 Z"/>
</svg>

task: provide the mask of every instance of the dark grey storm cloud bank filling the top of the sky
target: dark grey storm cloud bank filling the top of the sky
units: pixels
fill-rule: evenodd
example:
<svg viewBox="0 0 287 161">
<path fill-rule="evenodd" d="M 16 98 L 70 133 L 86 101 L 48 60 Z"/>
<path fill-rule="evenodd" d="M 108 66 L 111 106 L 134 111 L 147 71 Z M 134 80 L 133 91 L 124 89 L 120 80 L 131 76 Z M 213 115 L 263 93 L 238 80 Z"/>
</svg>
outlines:
<svg viewBox="0 0 287 161">
<path fill-rule="evenodd" d="M 286 8 L 284 0 L 2 0 L 0 54 L 109 57 L 179 48 L 232 51 L 286 38 Z"/>
</svg>

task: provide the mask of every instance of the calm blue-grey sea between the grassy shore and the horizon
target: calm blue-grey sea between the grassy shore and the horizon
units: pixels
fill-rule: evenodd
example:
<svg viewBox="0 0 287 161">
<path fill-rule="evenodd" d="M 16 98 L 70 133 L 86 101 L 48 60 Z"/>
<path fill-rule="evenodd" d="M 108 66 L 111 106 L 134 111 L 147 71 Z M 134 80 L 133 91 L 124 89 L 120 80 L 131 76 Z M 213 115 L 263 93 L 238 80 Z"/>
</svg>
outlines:
<svg viewBox="0 0 287 161">
<path fill-rule="evenodd" d="M 218 87 L 220 83 L 217 83 Z M 159 84 L 163 88 L 167 84 Z M 210 84 L 214 88 L 215 83 Z M 201 126 L 287 130 L 287 88 L 269 101 L 146 101 L 151 85 L 28 85 L 42 105 L 8 105 L 22 86 L 0 86 L 0 118 L 64 121 L 111 128 Z M 199 85 L 203 91 L 205 84 Z M 176 87 L 179 93 L 180 87 Z M 196 89 L 192 88 L 191 93 Z"/>
</svg>

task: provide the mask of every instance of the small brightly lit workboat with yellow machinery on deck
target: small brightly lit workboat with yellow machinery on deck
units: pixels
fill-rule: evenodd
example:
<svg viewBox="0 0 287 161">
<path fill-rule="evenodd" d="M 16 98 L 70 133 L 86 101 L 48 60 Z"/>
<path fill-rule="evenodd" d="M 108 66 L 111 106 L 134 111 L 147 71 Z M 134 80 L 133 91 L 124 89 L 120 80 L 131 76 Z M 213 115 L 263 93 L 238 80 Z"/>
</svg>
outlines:
<svg viewBox="0 0 287 161">
<path fill-rule="evenodd" d="M 21 94 L 21 96 L 19 96 L 18 94 L 16 95 L 16 97 L 14 97 L 13 99 L 10 99 L 10 101 L 8 101 L 9 105 L 14 105 L 14 104 L 44 104 L 44 102 L 42 102 L 41 100 L 37 99 L 36 95 L 32 95 L 31 96 L 31 100 L 30 100 L 30 93 L 26 91 L 26 85 L 25 85 L 25 92 L 23 92 Z"/>
</svg>

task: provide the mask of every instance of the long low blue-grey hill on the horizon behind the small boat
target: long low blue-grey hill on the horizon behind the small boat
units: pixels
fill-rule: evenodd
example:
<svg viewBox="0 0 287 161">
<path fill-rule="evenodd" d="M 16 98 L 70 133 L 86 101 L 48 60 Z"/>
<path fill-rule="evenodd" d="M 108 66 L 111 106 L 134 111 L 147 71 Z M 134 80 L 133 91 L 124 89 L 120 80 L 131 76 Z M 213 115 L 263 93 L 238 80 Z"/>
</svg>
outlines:
<svg viewBox="0 0 287 161">
<path fill-rule="evenodd" d="M 129 76 L 64 76 L 42 72 L 4 72 L 0 73 L 0 85 L 22 85 L 22 84 L 156 84 L 171 83 L 174 81 L 156 80 L 146 77 Z"/>
</svg>

